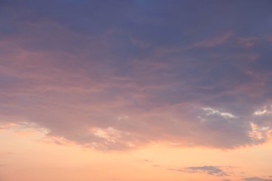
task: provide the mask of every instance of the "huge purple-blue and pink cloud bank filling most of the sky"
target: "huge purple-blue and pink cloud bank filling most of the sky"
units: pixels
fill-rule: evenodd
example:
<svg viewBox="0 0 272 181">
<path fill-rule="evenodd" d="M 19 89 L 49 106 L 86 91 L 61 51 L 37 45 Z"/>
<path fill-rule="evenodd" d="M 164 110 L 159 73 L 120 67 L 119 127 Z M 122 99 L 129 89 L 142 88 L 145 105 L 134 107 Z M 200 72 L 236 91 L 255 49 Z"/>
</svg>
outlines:
<svg viewBox="0 0 272 181">
<path fill-rule="evenodd" d="M 270 6 L 195 3 L 6 1 L 0 129 L 106 151 L 269 141 Z"/>
</svg>

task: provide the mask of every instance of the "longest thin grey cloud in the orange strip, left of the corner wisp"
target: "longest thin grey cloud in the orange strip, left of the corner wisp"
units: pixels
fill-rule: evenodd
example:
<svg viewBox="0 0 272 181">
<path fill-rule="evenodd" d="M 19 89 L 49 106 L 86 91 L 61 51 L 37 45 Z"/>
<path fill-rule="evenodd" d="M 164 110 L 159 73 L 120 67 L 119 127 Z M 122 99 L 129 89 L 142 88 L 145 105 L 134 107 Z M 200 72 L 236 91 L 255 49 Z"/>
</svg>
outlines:
<svg viewBox="0 0 272 181">
<path fill-rule="evenodd" d="M 222 166 L 191 166 L 182 169 L 171 169 L 173 171 L 181 171 L 188 173 L 206 173 L 216 176 L 227 176 L 229 173 L 222 170 Z"/>
</svg>

